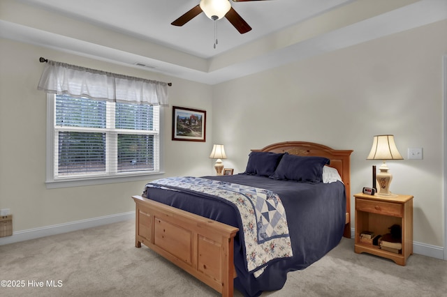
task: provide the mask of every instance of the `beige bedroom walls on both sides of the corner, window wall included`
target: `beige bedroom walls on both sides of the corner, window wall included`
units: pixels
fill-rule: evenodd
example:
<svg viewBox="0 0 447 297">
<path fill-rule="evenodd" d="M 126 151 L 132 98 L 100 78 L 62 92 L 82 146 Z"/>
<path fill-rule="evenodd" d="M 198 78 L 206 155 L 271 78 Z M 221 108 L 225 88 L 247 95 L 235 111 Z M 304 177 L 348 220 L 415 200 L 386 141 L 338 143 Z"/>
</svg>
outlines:
<svg viewBox="0 0 447 297">
<path fill-rule="evenodd" d="M 212 144 L 226 145 L 226 167 L 242 172 L 250 148 L 303 140 L 353 149 L 352 192 L 371 184 L 365 160 L 376 134 L 394 134 L 406 158 L 388 162 L 393 192 L 411 194 L 414 239 L 444 246 L 442 62 L 447 22 L 431 24 L 306 61 L 207 86 L 10 40 L 0 40 L 0 208 L 14 231 L 133 211 L 145 181 L 47 190 L 45 94 L 39 56 L 114 73 L 173 82 L 170 106 L 207 110 L 207 142 L 172 142 L 164 111 L 166 175 L 213 174 Z M 14 123 L 12 125 L 11 123 Z M 13 127 L 13 129 L 10 129 Z"/>
</svg>

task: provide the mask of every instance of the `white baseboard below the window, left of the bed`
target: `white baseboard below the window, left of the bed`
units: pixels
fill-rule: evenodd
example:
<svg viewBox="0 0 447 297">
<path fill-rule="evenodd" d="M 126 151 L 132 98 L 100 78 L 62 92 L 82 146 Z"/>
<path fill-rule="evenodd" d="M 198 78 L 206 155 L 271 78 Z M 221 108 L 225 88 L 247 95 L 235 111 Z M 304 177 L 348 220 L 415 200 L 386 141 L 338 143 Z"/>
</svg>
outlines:
<svg viewBox="0 0 447 297">
<path fill-rule="evenodd" d="M 103 217 L 98 218 L 91 218 L 76 222 L 68 222 L 64 224 L 54 224 L 46 227 L 13 232 L 12 236 L 1 237 L 0 245 L 6 245 L 8 243 L 18 243 L 20 241 L 28 241 L 34 238 L 62 234 L 66 232 L 77 231 L 91 227 L 97 227 L 103 224 L 122 222 L 124 220 L 135 220 L 135 211 L 129 211 L 129 213 L 117 213 L 115 215 L 105 215 Z"/>
</svg>

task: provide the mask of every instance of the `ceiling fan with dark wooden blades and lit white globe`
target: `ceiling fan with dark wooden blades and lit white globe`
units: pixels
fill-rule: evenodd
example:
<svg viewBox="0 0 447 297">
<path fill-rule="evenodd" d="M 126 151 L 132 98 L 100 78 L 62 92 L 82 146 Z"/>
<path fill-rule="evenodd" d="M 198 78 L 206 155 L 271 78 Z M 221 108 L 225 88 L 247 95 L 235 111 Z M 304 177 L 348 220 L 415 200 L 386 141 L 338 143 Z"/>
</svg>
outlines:
<svg viewBox="0 0 447 297">
<path fill-rule="evenodd" d="M 264 0 L 233 0 L 233 2 L 245 2 L 245 1 L 264 1 Z M 247 33 L 251 30 L 251 26 L 245 22 L 242 17 L 236 13 L 236 10 L 231 7 L 229 0 L 200 0 L 197 6 L 194 6 L 186 12 L 184 15 L 179 17 L 177 20 L 171 24 L 174 26 L 183 26 L 194 17 L 204 12 L 207 17 L 211 20 L 220 20 L 226 17 L 233 26 L 239 31 L 239 33 Z"/>
</svg>

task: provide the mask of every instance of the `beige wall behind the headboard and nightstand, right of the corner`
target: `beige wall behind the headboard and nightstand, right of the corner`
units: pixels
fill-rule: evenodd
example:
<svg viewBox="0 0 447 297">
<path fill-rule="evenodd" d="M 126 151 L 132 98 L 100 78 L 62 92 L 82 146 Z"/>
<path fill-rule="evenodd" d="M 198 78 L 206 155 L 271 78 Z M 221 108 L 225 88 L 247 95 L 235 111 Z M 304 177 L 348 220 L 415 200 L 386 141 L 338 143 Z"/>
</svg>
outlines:
<svg viewBox="0 0 447 297">
<path fill-rule="evenodd" d="M 353 149 L 351 192 L 372 185 L 373 135 L 394 134 L 391 190 L 414 195 L 414 240 L 444 246 L 442 56 L 447 22 L 338 50 L 215 86 L 213 139 L 242 172 L 250 148 L 288 140 Z M 353 202 L 353 200 L 351 200 Z M 353 207 L 353 203 L 351 204 Z"/>
</svg>

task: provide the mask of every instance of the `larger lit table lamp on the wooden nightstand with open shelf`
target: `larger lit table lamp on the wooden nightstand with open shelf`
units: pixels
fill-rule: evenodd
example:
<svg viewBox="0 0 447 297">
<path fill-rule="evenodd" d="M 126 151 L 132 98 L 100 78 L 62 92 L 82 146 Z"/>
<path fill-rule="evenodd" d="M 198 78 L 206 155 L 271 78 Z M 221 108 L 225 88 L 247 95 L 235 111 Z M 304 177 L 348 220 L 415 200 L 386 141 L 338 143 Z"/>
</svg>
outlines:
<svg viewBox="0 0 447 297">
<path fill-rule="evenodd" d="M 390 192 L 390 183 L 393 179 L 393 175 L 389 172 L 389 168 L 386 165 L 386 160 L 403 160 L 402 155 L 400 155 L 397 150 L 396 144 L 394 142 L 394 135 L 376 135 L 372 141 L 372 148 L 369 152 L 367 160 L 383 160 L 381 167 L 379 167 L 380 172 L 376 174 L 377 185 L 377 195 L 379 196 L 397 196 Z M 374 174 L 374 172 L 373 172 Z M 373 176 L 374 178 L 374 176 Z"/>
</svg>

